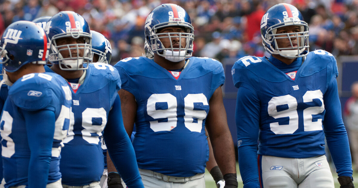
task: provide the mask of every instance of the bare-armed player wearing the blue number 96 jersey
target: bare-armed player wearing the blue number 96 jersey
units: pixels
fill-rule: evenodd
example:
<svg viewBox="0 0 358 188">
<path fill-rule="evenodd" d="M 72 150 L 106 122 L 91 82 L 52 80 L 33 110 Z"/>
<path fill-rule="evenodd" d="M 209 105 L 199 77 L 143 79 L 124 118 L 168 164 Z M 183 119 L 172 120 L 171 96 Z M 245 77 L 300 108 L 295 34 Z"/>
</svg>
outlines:
<svg viewBox="0 0 358 188">
<path fill-rule="evenodd" d="M 159 5 L 145 22 L 154 59 L 126 58 L 115 65 L 121 75 L 118 93 L 128 135 L 136 125 L 132 144 L 145 187 L 205 187 L 209 156 L 205 127 L 225 187 L 237 187 L 222 100 L 224 70 L 214 59 L 191 57 L 193 32 L 182 7 Z M 110 168 L 108 164 L 108 172 Z"/>
</svg>

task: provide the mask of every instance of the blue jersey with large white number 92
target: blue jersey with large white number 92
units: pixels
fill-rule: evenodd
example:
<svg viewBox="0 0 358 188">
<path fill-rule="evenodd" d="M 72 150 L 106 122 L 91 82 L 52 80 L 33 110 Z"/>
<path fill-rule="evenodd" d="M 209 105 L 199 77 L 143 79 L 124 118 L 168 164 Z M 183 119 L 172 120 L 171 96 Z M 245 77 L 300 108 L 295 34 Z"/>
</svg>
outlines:
<svg viewBox="0 0 358 188">
<path fill-rule="evenodd" d="M 241 58 L 232 73 L 236 87 L 252 90 L 260 100 L 258 154 L 286 158 L 325 154 L 323 98 L 338 75 L 332 54 L 310 52 L 295 80 L 265 57 Z"/>
</svg>

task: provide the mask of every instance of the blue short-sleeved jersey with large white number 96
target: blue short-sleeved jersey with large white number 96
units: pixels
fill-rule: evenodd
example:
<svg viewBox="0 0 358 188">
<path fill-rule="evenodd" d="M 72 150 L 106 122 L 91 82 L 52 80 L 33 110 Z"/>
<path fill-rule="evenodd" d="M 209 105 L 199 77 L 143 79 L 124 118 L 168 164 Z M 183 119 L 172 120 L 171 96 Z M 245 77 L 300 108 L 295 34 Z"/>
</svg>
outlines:
<svg viewBox="0 0 358 188">
<path fill-rule="evenodd" d="M 209 99 L 225 76 L 222 64 L 214 59 L 187 61 L 178 79 L 145 57 L 126 58 L 115 65 L 122 88 L 137 102 L 132 143 L 141 169 L 176 177 L 204 173 Z"/>
</svg>

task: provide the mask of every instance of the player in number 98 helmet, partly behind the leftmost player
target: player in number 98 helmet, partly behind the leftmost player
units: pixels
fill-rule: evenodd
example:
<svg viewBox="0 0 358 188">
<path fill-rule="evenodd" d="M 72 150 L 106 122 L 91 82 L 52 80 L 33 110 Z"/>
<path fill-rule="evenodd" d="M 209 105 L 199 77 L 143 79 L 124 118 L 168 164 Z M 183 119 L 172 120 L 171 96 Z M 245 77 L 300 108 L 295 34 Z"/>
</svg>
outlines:
<svg viewBox="0 0 358 188">
<path fill-rule="evenodd" d="M 51 62 L 47 71 L 67 80 L 73 97 L 71 125 L 64 140 L 60 169 L 64 188 L 100 188 L 103 174 L 102 136 L 113 163 L 131 188 L 143 187 L 135 153 L 123 126 L 118 71 L 91 63 L 92 37 L 87 21 L 73 11 L 61 11 L 48 21 Z"/>
</svg>

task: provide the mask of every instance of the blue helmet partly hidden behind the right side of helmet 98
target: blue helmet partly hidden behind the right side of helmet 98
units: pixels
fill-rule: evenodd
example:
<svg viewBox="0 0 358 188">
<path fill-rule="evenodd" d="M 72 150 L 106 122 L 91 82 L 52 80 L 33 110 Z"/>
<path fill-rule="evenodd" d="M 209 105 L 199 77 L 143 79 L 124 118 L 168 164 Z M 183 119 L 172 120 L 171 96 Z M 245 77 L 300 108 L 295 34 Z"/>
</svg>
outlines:
<svg viewBox="0 0 358 188">
<path fill-rule="evenodd" d="M 92 63 L 111 63 L 112 47 L 108 39 L 96 31 L 91 30 L 92 35 Z M 94 62 L 93 58 L 98 57 Z"/>
</svg>

